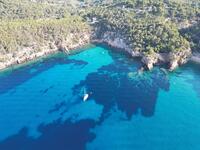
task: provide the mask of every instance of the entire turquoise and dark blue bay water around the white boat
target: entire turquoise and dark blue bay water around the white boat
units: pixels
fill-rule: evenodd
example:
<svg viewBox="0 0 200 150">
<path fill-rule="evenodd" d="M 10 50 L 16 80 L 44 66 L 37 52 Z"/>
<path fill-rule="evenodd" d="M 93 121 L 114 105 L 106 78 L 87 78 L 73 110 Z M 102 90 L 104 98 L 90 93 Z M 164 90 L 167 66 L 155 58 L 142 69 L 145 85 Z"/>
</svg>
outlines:
<svg viewBox="0 0 200 150">
<path fill-rule="evenodd" d="M 200 65 L 140 67 L 96 46 L 0 73 L 0 150 L 199 150 Z"/>
</svg>

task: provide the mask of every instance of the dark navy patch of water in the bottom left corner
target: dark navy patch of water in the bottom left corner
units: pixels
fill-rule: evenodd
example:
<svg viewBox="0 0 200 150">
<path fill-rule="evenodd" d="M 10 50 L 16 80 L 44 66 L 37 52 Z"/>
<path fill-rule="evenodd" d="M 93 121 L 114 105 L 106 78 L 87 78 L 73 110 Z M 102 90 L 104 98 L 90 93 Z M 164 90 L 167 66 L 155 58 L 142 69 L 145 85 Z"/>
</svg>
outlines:
<svg viewBox="0 0 200 150">
<path fill-rule="evenodd" d="M 28 129 L 0 142 L 1 150 L 85 150 L 86 143 L 95 138 L 90 129 L 95 126 L 93 120 L 72 123 L 70 120 L 40 126 L 42 133 L 38 138 L 28 136 Z"/>
</svg>

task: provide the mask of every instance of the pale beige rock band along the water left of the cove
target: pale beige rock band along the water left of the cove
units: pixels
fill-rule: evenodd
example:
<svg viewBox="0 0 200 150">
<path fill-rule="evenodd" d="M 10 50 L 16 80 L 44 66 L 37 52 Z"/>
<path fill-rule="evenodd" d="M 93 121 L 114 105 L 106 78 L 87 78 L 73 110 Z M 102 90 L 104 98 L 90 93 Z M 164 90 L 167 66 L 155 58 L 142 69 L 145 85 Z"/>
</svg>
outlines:
<svg viewBox="0 0 200 150">
<path fill-rule="evenodd" d="M 5 69 L 14 64 L 21 64 L 35 58 L 45 56 L 47 54 L 55 53 L 59 49 L 72 50 L 84 46 L 90 42 L 90 34 L 82 33 L 70 34 L 67 40 L 59 41 L 59 44 L 50 42 L 49 45 L 37 47 L 35 45 L 31 47 L 24 47 L 20 51 L 9 53 L 5 55 L 0 55 L 0 70 Z M 38 51 L 38 49 L 40 49 Z"/>
</svg>

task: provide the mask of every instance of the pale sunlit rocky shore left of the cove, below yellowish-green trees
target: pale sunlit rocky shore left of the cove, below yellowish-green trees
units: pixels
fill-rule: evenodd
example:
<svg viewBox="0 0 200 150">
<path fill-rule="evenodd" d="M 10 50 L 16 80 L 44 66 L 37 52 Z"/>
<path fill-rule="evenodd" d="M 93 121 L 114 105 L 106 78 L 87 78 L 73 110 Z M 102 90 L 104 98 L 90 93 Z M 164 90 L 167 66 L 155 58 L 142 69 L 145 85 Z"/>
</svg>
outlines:
<svg viewBox="0 0 200 150">
<path fill-rule="evenodd" d="M 82 35 L 83 35 L 83 38 L 79 39 L 76 43 L 73 43 L 72 42 L 73 38 L 70 38 L 69 40 L 64 41 L 60 45 L 50 44 L 51 46 L 45 45 L 45 46 L 39 47 L 40 51 L 38 51 L 38 48 L 32 46 L 32 47 L 22 48 L 22 50 L 14 52 L 14 53 L 1 55 L 0 56 L 0 71 L 6 70 L 7 68 L 10 68 L 15 65 L 24 64 L 29 61 L 33 61 L 35 59 L 39 59 L 41 57 L 54 54 L 59 51 L 69 54 L 70 51 L 80 49 L 90 44 L 90 36 L 88 34 L 82 34 Z"/>
</svg>

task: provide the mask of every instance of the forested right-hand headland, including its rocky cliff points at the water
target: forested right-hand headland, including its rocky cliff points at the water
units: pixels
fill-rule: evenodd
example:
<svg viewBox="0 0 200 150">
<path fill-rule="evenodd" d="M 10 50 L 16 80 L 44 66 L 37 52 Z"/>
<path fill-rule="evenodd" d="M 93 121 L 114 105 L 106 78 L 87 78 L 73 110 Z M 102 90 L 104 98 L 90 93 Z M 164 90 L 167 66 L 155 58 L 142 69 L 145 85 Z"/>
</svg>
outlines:
<svg viewBox="0 0 200 150">
<path fill-rule="evenodd" d="M 80 15 L 93 26 L 96 39 L 115 42 L 120 38 L 118 41 L 127 45 L 122 47 L 140 53 L 145 63 L 151 64 L 150 68 L 160 61 L 155 54 L 168 53 L 170 58 L 165 62 L 174 69 L 186 62 L 191 55 L 191 47 L 194 49 L 194 35 L 188 37 L 180 31 L 198 26 L 200 3 L 175 0 L 104 1 L 81 10 Z"/>
</svg>

